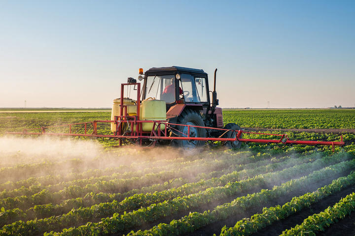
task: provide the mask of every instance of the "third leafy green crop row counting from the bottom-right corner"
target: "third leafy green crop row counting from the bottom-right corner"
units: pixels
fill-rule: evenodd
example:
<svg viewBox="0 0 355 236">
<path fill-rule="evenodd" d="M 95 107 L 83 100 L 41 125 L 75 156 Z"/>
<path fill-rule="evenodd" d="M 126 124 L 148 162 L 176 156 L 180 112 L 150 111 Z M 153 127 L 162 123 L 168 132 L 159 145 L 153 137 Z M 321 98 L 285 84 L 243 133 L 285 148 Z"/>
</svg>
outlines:
<svg viewBox="0 0 355 236">
<path fill-rule="evenodd" d="M 316 161 L 317 162 L 317 161 Z M 303 164 L 312 165 L 312 163 Z M 304 185 L 314 184 L 319 179 L 331 177 L 339 172 L 349 170 L 355 167 L 355 160 L 342 162 L 335 164 L 331 167 L 321 169 L 320 171 L 315 171 L 312 174 L 301 177 L 299 179 L 292 179 L 281 185 L 274 186 L 272 189 L 261 190 L 258 193 L 248 194 L 247 196 L 239 197 L 232 201 L 231 203 L 223 204 L 221 206 L 215 207 L 213 211 L 205 211 L 204 213 L 192 212 L 187 216 L 184 216 L 180 220 L 173 220 L 170 224 L 159 224 L 147 231 L 138 231 L 130 233 L 130 236 L 141 236 L 141 235 L 159 235 L 157 232 L 166 232 L 166 235 L 178 235 L 183 233 L 188 233 L 202 228 L 208 224 L 216 222 L 218 220 L 227 219 L 230 216 L 241 214 L 244 211 L 261 204 L 267 204 L 268 202 L 284 196 L 286 193 L 293 191 L 299 191 Z M 304 168 L 304 167 L 303 167 Z M 304 170 L 304 169 L 303 169 Z M 301 171 L 301 170 L 297 170 Z M 281 174 L 282 173 L 282 174 Z M 289 178 L 291 172 L 289 170 L 282 171 L 278 176 L 273 176 L 273 179 Z M 260 181 L 260 180 L 259 180 Z M 233 186 L 233 184 L 231 184 Z M 217 194 L 215 192 L 214 194 Z M 211 196 L 212 199 L 213 196 Z M 112 220 L 113 221 L 113 220 Z M 80 229 L 80 227 L 78 228 Z M 63 233 L 63 235 L 66 235 Z"/>
</svg>

